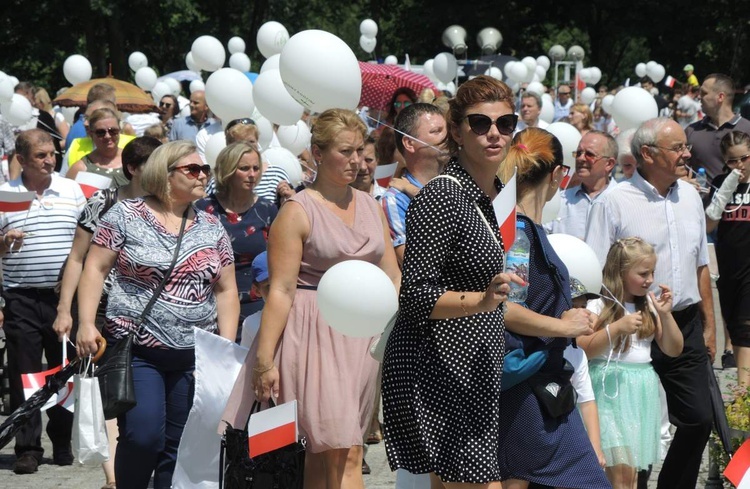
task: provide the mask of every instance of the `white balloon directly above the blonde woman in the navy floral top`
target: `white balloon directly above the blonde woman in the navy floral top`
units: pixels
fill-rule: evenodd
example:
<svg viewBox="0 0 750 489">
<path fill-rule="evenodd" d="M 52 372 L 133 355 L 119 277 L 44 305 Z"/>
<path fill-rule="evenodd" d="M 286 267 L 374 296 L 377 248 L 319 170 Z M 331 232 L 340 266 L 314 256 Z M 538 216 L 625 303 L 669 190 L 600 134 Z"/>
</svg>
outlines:
<svg viewBox="0 0 750 489">
<path fill-rule="evenodd" d="M 206 80 L 206 103 L 223 121 L 253 114 L 253 84 L 241 71 L 221 68 Z"/>
</svg>

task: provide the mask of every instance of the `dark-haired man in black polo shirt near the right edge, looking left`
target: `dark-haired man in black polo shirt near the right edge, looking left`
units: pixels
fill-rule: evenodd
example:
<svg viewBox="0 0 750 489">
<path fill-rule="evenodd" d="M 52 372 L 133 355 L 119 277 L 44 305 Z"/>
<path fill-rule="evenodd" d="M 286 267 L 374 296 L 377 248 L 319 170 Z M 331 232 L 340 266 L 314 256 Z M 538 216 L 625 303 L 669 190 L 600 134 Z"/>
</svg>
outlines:
<svg viewBox="0 0 750 489">
<path fill-rule="evenodd" d="M 696 171 L 705 168 L 709 182 L 724 168 L 719 143 L 731 131 L 750 133 L 750 121 L 732 110 L 734 81 L 727 75 L 713 73 L 701 85 L 703 120 L 690 124 L 685 133 L 693 145 L 691 165 Z"/>
</svg>

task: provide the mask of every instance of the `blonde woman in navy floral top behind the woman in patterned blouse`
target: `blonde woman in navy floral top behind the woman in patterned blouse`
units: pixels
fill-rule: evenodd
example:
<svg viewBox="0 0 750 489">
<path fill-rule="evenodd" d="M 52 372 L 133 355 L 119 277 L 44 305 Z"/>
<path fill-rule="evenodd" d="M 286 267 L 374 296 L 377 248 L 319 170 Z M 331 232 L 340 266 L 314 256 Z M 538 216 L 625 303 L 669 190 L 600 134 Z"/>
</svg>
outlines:
<svg viewBox="0 0 750 489">
<path fill-rule="evenodd" d="M 216 216 L 232 240 L 242 324 L 246 317 L 263 308 L 263 299 L 251 292 L 251 265 L 256 256 L 266 251 L 268 230 L 278 210 L 254 192 L 263 174 L 255 146 L 230 144 L 216 158 L 214 173 L 216 192 L 196 202 L 196 207 Z"/>
</svg>

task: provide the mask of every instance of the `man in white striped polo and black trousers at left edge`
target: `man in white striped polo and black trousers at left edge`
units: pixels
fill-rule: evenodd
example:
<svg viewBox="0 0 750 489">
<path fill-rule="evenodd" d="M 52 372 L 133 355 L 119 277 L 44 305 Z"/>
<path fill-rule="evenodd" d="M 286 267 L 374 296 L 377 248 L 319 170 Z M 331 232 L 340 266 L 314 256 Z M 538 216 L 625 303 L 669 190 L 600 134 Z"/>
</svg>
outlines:
<svg viewBox="0 0 750 489">
<path fill-rule="evenodd" d="M 42 354 L 50 368 L 62 361 L 62 348 L 52 329 L 57 314 L 54 287 L 70 253 L 78 215 L 86 204 L 76 182 L 54 174 L 55 146 L 48 133 L 39 129 L 22 132 L 16 140 L 16 155 L 21 176 L 0 186 L 0 191 L 31 191 L 35 198 L 28 211 L 0 213 L 3 327 L 12 409 L 24 400 L 22 373 L 40 372 Z M 48 409 L 47 415 L 52 458 L 57 465 L 71 465 L 73 415 L 61 406 Z M 44 453 L 41 433 L 42 419 L 37 413 L 16 435 L 13 470 L 17 474 L 36 472 Z"/>
</svg>

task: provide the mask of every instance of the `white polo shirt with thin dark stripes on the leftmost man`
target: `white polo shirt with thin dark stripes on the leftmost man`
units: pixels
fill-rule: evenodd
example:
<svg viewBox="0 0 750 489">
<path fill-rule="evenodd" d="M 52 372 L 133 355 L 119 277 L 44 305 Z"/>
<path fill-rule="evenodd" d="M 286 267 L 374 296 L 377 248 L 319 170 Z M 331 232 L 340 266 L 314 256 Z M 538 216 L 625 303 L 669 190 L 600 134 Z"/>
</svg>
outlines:
<svg viewBox="0 0 750 489">
<path fill-rule="evenodd" d="M 19 177 L 0 186 L 0 191 L 28 192 Z M 78 216 L 86 205 L 81 187 L 52 175 L 49 187 L 31 203 L 28 211 L 0 213 L 3 234 L 11 229 L 25 233 L 23 246 L 3 256 L 5 288 L 52 288 L 70 253 Z"/>
</svg>

